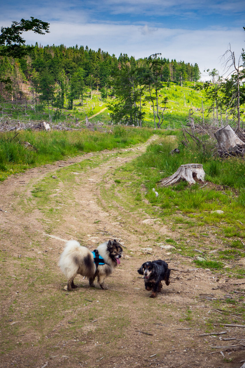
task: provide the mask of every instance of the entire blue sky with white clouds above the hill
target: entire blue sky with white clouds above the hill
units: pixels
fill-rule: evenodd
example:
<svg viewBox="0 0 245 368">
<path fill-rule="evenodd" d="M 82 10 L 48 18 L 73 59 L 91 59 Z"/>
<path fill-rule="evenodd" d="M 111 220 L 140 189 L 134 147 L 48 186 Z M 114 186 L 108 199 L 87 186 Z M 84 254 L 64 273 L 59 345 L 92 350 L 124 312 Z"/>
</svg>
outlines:
<svg viewBox="0 0 245 368">
<path fill-rule="evenodd" d="M 237 59 L 245 48 L 245 1 L 227 0 L 0 0 L 0 25 L 35 17 L 50 23 L 45 36 L 25 33 L 27 43 L 88 45 L 110 54 L 163 57 L 198 63 L 223 74 L 228 44 Z"/>
</svg>

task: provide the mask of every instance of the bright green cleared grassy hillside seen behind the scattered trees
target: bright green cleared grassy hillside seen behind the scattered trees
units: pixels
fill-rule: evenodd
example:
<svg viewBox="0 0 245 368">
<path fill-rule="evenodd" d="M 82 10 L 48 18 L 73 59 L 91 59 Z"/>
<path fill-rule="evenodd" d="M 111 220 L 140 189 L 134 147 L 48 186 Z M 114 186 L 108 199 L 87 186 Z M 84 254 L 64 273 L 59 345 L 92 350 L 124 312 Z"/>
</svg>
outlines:
<svg viewBox="0 0 245 368">
<path fill-rule="evenodd" d="M 197 91 L 193 89 L 194 82 L 186 82 L 185 87 L 181 87 L 175 83 L 171 83 L 169 87 L 163 86 L 159 93 L 159 107 L 160 114 L 161 108 L 164 107 L 164 103 L 162 103 L 165 97 L 168 98 L 166 110 L 164 111 L 164 122 L 161 125 L 162 128 L 179 128 L 181 127 L 181 123 L 185 125 L 186 120 L 188 118 L 188 113 L 190 109 L 194 111 L 196 108 L 203 106 L 205 109 L 205 117 L 208 117 L 208 107 L 211 105 L 210 101 L 206 100 L 204 91 Z M 149 92 L 146 91 L 145 96 L 149 96 Z M 74 108 L 72 110 L 66 109 L 66 102 L 64 105 L 63 113 L 59 116 L 57 111 L 53 111 L 53 123 L 65 122 L 66 124 L 71 124 L 74 126 L 75 119 L 78 119 L 79 123 L 83 123 L 85 120 L 85 116 L 91 117 L 100 111 L 95 117 L 93 117 L 92 121 L 102 121 L 104 124 L 111 123 L 110 118 L 110 110 L 107 108 L 109 103 L 114 99 L 108 97 L 107 100 L 102 100 L 100 92 L 93 91 L 92 99 L 90 91 L 84 96 L 84 104 L 81 106 L 81 100 L 74 101 Z M 154 116 L 153 116 L 153 108 L 152 102 L 144 102 L 145 106 L 143 106 L 143 112 L 146 113 L 143 126 L 148 128 L 154 128 Z M 43 110 L 43 112 L 39 113 L 36 107 L 33 106 L 32 103 L 25 102 L 8 102 L 2 103 L 0 105 L 1 113 L 0 116 L 3 120 L 7 119 L 19 119 L 19 120 L 49 120 L 48 109 L 47 107 Z M 67 105 L 68 106 L 68 105 Z M 194 112 L 194 115 L 197 118 L 202 119 L 202 112 L 197 111 Z"/>
</svg>

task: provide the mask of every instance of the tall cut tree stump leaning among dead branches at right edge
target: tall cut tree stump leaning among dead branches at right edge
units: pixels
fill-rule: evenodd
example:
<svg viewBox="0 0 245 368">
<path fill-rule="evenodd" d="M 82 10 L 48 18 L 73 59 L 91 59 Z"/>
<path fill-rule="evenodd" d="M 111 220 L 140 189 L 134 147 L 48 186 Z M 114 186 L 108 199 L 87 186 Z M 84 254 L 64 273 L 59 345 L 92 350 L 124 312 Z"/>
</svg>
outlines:
<svg viewBox="0 0 245 368">
<path fill-rule="evenodd" d="M 238 138 L 237 134 L 235 134 L 229 124 L 214 133 L 214 137 L 217 139 L 219 147 L 227 151 L 229 148 L 233 148 L 235 146 L 245 147 L 245 143 Z"/>
</svg>

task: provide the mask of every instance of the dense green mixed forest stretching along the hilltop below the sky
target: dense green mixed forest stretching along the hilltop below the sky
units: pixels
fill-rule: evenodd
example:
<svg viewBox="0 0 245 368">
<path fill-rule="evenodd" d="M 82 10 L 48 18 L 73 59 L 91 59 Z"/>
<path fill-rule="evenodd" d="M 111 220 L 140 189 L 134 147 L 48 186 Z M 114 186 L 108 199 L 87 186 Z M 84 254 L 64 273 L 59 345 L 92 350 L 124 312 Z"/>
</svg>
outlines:
<svg viewBox="0 0 245 368">
<path fill-rule="evenodd" d="M 147 89 L 150 86 L 150 91 L 156 87 L 154 66 L 160 84 L 166 82 L 169 85 L 173 81 L 183 85 L 184 81 L 197 81 L 200 77 L 197 64 L 193 66 L 175 59 L 170 61 L 160 55 L 135 60 L 127 54 L 121 53 L 117 58 L 114 54 L 111 56 L 101 49 L 91 50 L 88 46 L 43 47 L 36 43 L 24 57 L 0 57 L 0 95 L 8 101 L 31 98 L 39 112 L 48 107 L 52 121 L 60 117 L 64 107 L 72 110 L 75 99 L 81 99 L 82 105 L 89 90 L 99 91 L 103 100 L 117 96 L 121 101 L 124 96 L 120 86 L 124 89 L 127 85 L 124 92 L 129 93 L 129 106 L 121 112 L 115 107 L 113 117 L 116 120 L 129 119 L 132 123 L 138 110 L 138 117 L 142 120 L 138 105 L 145 85 Z"/>
</svg>

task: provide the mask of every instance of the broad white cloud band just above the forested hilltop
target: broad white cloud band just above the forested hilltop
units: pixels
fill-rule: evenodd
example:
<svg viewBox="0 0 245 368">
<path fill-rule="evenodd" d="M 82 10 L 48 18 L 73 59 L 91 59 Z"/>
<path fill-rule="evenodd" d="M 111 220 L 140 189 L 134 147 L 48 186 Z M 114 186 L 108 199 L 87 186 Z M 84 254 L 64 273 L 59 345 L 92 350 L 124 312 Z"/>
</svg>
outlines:
<svg viewBox="0 0 245 368">
<path fill-rule="evenodd" d="M 197 63 L 200 71 L 209 68 L 221 70 L 220 56 L 231 44 L 231 49 L 239 57 L 244 43 L 244 31 L 237 29 L 186 29 L 151 28 L 148 25 L 116 24 L 71 24 L 53 22 L 50 33 L 39 36 L 26 33 L 28 43 L 36 41 L 42 45 L 75 46 L 88 45 L 97 50 L 101 48 L 110 54 L 127 53 L 129 56 L 148 57 L 161 52 L 162 57 L 184 60 L 185 63 Z M 203 79 L 206 79 L 203 77 Z"/>
</svg>

